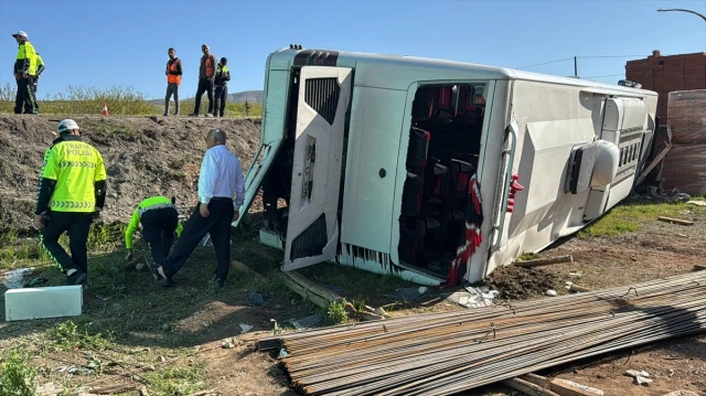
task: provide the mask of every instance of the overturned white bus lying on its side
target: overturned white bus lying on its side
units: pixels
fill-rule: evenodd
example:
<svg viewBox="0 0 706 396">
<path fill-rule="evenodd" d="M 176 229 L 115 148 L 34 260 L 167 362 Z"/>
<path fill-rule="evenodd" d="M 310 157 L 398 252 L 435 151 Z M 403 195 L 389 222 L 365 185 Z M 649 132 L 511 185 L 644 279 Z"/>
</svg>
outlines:
<svg viewBox="0 0 706 396">
<path fill-rule="evenodd" d="M 422 285 L 475 281 L 627 197 L 656 101 L 576 78 L 290 46 L 267 61 L 240 211 L 261 189 L 260 240 L 285 250 L 284 270 L 334 260 Z"/>
</svg>

